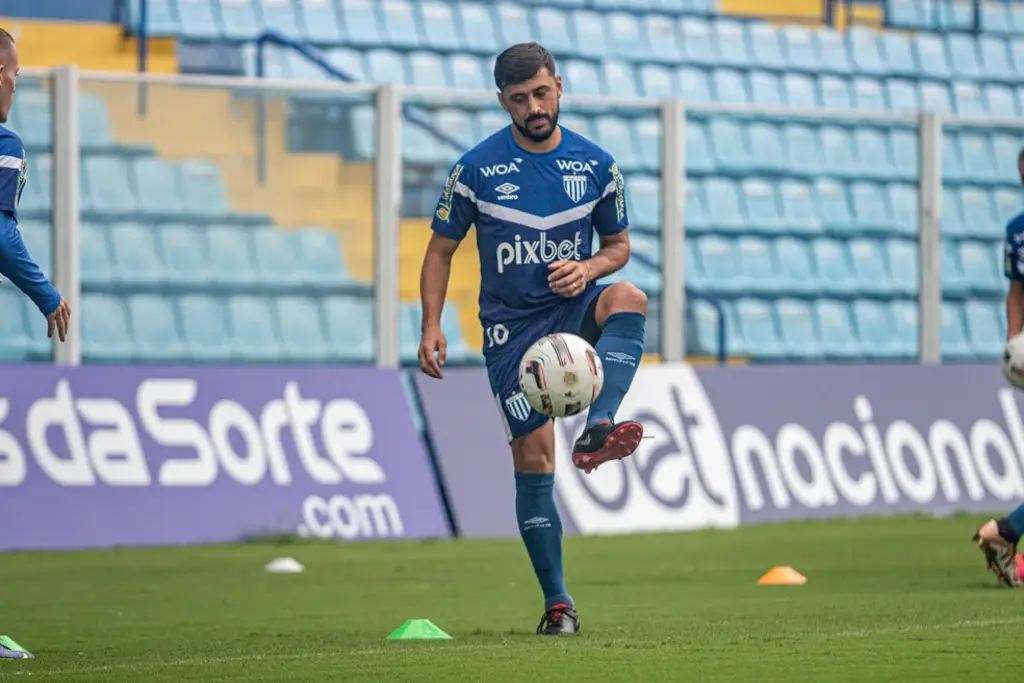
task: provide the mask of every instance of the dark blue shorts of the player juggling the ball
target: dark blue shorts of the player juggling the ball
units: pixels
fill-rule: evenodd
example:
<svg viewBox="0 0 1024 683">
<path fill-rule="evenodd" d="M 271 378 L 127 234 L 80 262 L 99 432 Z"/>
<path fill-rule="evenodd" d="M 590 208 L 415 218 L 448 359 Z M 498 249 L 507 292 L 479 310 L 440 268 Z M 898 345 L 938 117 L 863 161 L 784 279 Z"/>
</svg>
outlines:
<svg viewBox="0 0 1024 683">
<path fill-rule="evenodd" d="M 551 419 L 531 409 L 519 390 L 519 361 L 522 360 L 522 354 L 538 339 L 556 332 L 580 335 L 591 344 L 596 344 L 596 324 L 589 321 L 590 325 L 587 327 L 592 329 L 585 330 L 588 323 L 585 318 L 591 305 L 595 304 L 606 287 L 608 285 L 592 287 L 581 296 L 566 299 L 543 313 L 515 323 L 484 325 L 483 355 L 487 378 L 490 380 L 490 391 L 498 401 L 509 442 L 543 427 Z"/>
</svg>

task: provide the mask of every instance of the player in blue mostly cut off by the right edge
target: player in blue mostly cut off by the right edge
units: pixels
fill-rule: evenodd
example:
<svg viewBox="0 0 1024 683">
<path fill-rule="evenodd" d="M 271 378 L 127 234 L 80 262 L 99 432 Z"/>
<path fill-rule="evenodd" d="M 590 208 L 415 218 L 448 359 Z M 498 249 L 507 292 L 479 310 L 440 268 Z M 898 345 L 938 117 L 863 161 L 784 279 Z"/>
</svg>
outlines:
<svg viewBox="0 0 1024 683">
<path fill-rule="evenodd" d="M 1017 172 L 1024 185 L 1024 150 L 1017 155 Z M 1024 327 L 1024 213 L 1007 223 L 1004 240 L 1006 255 L 1002 272 L 1010 281 L 1007 291 L 1007 341 Z M 1007 359 L 1005 358 L 1004 361 Z M 1017 573 L 1017 542 L 1024 533 L 1024 505 L 1019 505 L 1006 517 L 989 519 L 974 535 L 974 541 L 985 555 L 988 569 L 1007 586 L 1020 586 Z"/>
</svg>

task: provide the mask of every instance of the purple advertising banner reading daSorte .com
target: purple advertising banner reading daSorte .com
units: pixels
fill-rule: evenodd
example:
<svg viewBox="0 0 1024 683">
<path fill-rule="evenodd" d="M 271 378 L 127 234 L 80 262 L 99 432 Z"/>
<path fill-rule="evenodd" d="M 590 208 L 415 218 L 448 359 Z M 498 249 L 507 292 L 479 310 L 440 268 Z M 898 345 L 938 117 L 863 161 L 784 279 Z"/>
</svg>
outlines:
<svg viewBox="0 0 1024 683">
<path fill-rule="evenodd" d="M 397 372 L 0 367 L 0 550 L 447 537 Z"/>
</svg>

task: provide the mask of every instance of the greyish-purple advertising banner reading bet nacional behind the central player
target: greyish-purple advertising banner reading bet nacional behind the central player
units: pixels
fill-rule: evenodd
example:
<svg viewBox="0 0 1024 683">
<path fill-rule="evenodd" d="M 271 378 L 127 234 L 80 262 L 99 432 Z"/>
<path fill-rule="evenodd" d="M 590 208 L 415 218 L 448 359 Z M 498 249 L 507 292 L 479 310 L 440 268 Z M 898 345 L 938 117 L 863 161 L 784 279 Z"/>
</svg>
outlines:
<svg viewBox="0 0 1024 683">
<path fill-rule="evenodd" d="M 511 468 L 485 455 L 507 452 L 486 377 L 451 379 L 417 386 L 457 524 L 515 533 L 496 504 Z M 559 507 L 582 533 L 999 511 L 1024 498 L 1022 408 L 997 365 L 644 366 L 618 413 L 644 425 L 633 457 L 583 474 L 585 418 L 556 422 Z"/>
</svg>

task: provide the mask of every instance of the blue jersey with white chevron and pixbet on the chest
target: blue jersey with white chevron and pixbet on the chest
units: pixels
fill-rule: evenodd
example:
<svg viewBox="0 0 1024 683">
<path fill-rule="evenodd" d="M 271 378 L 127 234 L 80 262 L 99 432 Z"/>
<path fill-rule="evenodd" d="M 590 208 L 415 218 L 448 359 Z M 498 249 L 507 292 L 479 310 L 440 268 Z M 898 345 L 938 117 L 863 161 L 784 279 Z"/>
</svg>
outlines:
<svg viewBox="0 0 1024 683">
<path fill-rule="evenodd" d="M 506 127 L 452 168 L 431 227 L 462 240 L 473 224 L 480 321 L 518 321 L 565 302 L 548 283 L 551 263 L 588 259 L 595 231 L 626 229 L 623 176 L 611 155 L 570 130 L 555 150 L 532 154 Z"/>
</svg>

